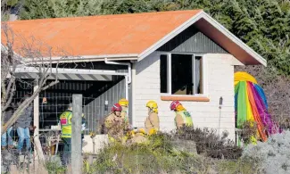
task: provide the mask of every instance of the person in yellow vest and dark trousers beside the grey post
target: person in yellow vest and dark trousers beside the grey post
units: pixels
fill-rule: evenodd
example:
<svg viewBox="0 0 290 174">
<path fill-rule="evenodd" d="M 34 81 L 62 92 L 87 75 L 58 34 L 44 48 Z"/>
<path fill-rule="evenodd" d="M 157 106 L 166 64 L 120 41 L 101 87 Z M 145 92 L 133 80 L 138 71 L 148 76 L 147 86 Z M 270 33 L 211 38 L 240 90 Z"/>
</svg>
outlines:
<svg viewBox="0 0 290 174">
<path fill-rule="evenodd" d="M 62 142 L 63 142 L 63 155 L 62 155 L 62 165 L 67 165 L 70 163 L 70 153 L 71 153 L 71 118 L 72 118 L 72 104 L 69 108 L 62 112 L 60 116 L 60 122 L 62 127 Z M 84 118 L 84 114 L 82 114 Z"/>
</svg>

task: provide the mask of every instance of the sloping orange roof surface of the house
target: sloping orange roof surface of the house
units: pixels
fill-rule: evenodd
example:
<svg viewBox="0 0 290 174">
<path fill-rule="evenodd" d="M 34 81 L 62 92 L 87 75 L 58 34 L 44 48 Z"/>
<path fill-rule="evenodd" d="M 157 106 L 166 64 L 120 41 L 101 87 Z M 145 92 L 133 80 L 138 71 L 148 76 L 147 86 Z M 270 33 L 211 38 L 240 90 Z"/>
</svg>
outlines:
<svg viewBox="0 0 290 174">
<path fill-rule="evenodd" d="M 141 54 L 201 11 L 11 21 L 8 25 L 21 37 L 29 40 L 32 36 L 54 51 L 63 49 L 73 55 Z M 5 43 L 3 36 L 1 42 Z M 21 47 L 21 42 L 15 41 L 14 45 Z"/>
</svg>

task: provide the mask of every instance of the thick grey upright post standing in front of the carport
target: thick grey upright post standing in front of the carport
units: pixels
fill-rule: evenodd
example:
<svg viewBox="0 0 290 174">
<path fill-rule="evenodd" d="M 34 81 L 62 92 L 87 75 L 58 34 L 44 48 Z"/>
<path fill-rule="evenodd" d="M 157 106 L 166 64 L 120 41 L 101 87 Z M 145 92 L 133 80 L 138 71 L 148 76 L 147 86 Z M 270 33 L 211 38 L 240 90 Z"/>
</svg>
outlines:
<svg viewBox="0 0 290 174">
<path fill-rule="evenodd" d="M 72 95 L 72 119 L 71 119 L 71 170 L 72 173 L 82 173 L 81 156 L 81 114 L 82 95 Z"/>
</svg>

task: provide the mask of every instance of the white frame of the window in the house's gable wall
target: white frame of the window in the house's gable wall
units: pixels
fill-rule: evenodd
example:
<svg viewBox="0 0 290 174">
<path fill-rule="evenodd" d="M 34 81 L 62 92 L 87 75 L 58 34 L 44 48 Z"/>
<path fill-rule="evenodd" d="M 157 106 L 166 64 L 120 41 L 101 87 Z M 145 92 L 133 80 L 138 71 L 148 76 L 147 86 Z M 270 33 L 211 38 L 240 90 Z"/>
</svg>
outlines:
<svg viewBox="0 0 290 174">
<path fill-rule="evenodd" d="M 204 54 L 193 54 L 193 53 L 161 53 L 160 55 L 164 55 L 166 54 L 167 55 L 167 93 L 161 93 L 161 95 L 164 95 L 164 96 L 208 96 L 208 91 L 207 91 L 207 63 L 206 63 L 206 56 L 204 56 Z M 193 91 L 194 91 L 194 95 L 172 95 L 171 94 L 171 54 L 190 54 L 190 55 L 193 55 L 193 65 L 192 65 L 192 71 L 193 71 L 193 82 L 194 82 L 194 88 L 193 88 Z M 201 61 L 202 61 L 202 73 L 203 73 L 203 94 L 195 94 L 195 56 L 200 56 L 202 57 Z"/>
</svg>

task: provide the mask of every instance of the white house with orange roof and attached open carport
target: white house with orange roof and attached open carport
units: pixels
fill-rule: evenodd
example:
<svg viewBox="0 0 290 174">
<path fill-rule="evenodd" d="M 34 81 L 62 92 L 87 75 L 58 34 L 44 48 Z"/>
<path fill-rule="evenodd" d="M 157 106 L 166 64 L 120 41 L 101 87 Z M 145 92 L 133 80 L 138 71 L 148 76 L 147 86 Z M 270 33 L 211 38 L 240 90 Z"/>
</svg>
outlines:
<svg viewBox="0 0 290 174">
<path fill-rule="evenodd" d="M 52 46 L 51 61 L 65 64 L 55 73 L 61 83 L 42 92 L 40 103 L 46 97 L 47 104 L 67 104 L 49 99 L 64 95 L 71 100 L 72 93 L 83 94 L 90 131 L 97 130 L 112 104 L 126 97 L 134 127 L 144 126 L 145 104 L 154 100 L 159 105 L 161 129 L 170 131 L 175 128 L 170 103 L 179 100 L 196 127 L 228 130 L 235 139 L 234 66 L 267 64 L 203 10 L 12 21 L 8 25 L 23 37 L 33 36 Z M 75 57 L 63 58 L 57 52 L 60 48 Z M 31 68 L 18 72 L 21 79 L 35 77 Z M 63 110 L 57 107 L 52 116 L 56 120 Z M 35 116 L 44 120 L 54 111 L 41 112 L 40 108 L 35 108 L 39 114 Z"/>
</svg>

